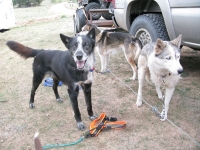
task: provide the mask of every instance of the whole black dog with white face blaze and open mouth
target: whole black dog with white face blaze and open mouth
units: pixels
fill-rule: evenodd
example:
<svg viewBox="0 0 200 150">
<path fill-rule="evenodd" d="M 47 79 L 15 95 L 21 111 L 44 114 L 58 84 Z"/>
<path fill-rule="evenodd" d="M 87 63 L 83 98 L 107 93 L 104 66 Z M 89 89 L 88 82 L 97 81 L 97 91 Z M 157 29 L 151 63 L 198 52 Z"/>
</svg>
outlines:
<svg viewBox="0 0 200 150">
<path fill-rule="evenodd" d="M 8 41 L 6 44 L 10 49 L 25 59 L 34 57 L 33 83 L 29 107 L 35 107 L 35 91 L 45 77 L 45 74 L 50 72 L 53 75 L 53 91 L 58 102 L 62 102 L 57 90 L 59 81 L 62 81 L 68 86 L 68 93 L 78 128 L 83 130 L 85 129 L 85 126 L 82 123 L 77 102 L 79 86 L 83 89 L 90 119 L 93 120 L 96 118 L 92 111 L 91 102 L 92 71 L 95 61 L 95 29 L 91 29 L 87 35 L 67 37 L 60 34 L 60 37 L 67 47 L 67 51 L 37 50 L 25 47 L 24 45 L 14 41 Z"/>
</svg>

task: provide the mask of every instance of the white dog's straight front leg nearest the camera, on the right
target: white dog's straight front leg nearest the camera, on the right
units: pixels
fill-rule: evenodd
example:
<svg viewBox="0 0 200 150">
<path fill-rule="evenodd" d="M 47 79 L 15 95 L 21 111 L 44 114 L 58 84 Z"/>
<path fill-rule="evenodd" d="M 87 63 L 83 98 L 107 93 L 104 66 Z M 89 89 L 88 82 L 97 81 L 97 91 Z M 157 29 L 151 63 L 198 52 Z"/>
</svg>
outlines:
<svg viewBox="0 0 200 150">
<path fill-rule="evenodd" d="M 163 104 L 162 112 L 160 114 L 161 121 L 165 121 L 167 119 L 167 113 L 169 110 L 169 102 L 172 98 L 173 92 L 174 92 L 174 88 L 166 88 L 165 90 L 165 101 Z"/>
</svg>

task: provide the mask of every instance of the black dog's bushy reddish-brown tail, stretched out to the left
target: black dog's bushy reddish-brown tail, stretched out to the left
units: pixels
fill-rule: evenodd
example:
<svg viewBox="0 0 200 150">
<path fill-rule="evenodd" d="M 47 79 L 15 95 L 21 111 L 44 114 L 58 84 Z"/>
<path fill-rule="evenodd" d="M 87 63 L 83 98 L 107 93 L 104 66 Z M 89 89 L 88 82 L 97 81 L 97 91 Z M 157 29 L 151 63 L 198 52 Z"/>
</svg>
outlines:
<svg viewBox="0 0 200 150">
<path fill-rule="evenodd" d="M 14 52 L 16 52 L 17 54 L 19 54 L 21 57 L 27 59 L 29 57 L 35 57 L 38 53 L 41 52 L 41 50 L 35 50 L 32 49 L 30 47 L 26 47 L 18 42 L 15 41 L 8 41 L 6 43 L 6 45 L 13 50 Z"/>
</svg>

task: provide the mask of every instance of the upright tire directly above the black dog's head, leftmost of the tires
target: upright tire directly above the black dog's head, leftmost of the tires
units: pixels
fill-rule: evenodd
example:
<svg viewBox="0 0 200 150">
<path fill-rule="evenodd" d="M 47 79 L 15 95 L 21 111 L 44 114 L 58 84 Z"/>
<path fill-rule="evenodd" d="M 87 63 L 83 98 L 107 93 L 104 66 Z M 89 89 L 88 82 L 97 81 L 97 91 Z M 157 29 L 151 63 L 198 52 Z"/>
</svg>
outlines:
<svg viewBox="0 0 200 150">
<path fill-rule="evenodd" d="M 79 33 L 82 30 L 82 27 L 86 25 L 86 17 L 83 13 L 83 9 L 77 9 L 76 15 L 74 17 L 74 33 Z"/>
</svg>

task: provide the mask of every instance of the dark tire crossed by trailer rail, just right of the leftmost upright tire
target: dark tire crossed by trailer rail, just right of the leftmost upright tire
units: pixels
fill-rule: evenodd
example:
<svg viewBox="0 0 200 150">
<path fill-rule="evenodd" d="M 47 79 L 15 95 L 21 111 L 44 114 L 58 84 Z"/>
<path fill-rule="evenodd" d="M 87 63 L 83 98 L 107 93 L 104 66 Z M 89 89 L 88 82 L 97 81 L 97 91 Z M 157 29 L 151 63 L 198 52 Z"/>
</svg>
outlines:
<svg viewBox="0 0 200 150">
<path fill-rule="evenodd" d="M 98 3 L 92 2 L 85 6 L 85 12 L 88 13 L 90 9 L 100 9 L 100 5 Z M 101 17 L 101 13 L 93 13 L 92 20 L 98 20 Z M 90 15 L 88 14 L 88 19 L 90 19 Z"/>
</svg>

